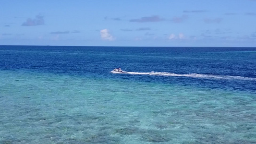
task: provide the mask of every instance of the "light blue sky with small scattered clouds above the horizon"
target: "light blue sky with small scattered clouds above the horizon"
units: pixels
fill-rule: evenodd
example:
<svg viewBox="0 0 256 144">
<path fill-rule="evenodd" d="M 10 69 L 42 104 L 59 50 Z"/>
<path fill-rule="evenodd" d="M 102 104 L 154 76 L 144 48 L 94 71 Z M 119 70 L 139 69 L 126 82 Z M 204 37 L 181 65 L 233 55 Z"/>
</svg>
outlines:
<svg viewBox="0 0 256 144">
<path fill-rule="evenodd" d="M 0 45 L 256 47 L 256 0 L 0 0 Z"/>
</svg>

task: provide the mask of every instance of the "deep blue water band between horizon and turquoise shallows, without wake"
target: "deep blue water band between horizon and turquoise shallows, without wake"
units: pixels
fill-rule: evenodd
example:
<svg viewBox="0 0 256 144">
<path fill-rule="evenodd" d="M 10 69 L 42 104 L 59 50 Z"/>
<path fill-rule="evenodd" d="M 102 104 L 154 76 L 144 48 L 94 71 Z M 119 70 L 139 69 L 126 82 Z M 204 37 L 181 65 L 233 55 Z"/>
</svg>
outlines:
<svg viewBox="0 0 256 144">
<path fill-rule="evenodd" d="M 52 72 L 115 80 L 256 90 L 256 48 L 0 46 L 0 50 L 0 70 Z M 197 73 L 241 78 L 110 73 L 117 67 L 127 72 Z"/>
</svg>

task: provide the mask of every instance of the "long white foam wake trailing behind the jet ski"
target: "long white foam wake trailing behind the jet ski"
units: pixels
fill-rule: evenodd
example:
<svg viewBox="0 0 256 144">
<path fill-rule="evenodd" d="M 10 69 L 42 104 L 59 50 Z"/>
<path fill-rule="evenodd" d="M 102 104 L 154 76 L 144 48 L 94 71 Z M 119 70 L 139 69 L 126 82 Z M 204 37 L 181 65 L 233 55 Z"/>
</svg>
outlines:
<svg viewBox="0 0 256 144">
<path fill-rule="evenodd" d="M 121 72 L 116 72 L 116 71 L 111 71 L 111 72 L 112 73 L 121 73 Z M 123 74 L 181 76 L 181 77 L 194 77 L 194 78 L 205 78 L 205 79 L 238 79 L 238 80 L 256 81 L 256 78 L 243 77 L 243 76 L 198 74 L 198 73 L 177 74 L 177 73 L 169 73 L 169 72 L 126 72 Z"/>
</svg>

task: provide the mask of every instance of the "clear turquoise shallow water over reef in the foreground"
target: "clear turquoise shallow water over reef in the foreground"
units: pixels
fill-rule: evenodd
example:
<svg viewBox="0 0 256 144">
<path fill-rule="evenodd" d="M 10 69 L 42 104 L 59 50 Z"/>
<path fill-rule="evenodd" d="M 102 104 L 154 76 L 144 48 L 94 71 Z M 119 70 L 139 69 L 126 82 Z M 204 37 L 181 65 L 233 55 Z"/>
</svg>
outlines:
<svg viewBox="0 0 256 144">
<path fill-rule="evenodd" d="M 0 71 L 1 144 L 255 144 L 256 95 Z"/>
</svg>

